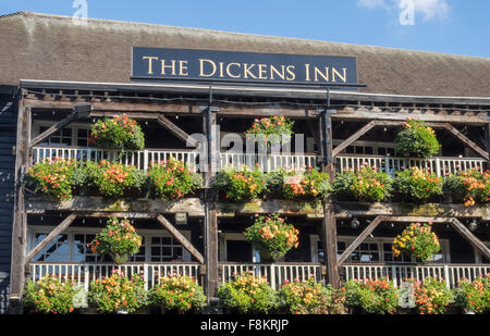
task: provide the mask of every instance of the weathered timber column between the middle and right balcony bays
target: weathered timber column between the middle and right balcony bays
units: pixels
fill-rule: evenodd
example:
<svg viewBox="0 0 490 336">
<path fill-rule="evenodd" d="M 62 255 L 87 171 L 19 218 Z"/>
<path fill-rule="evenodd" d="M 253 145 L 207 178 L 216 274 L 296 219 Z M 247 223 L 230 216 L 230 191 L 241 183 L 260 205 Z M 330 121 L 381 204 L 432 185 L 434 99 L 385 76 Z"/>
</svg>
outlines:
<svg viewBox="0 0 490 336">
<path fill-rule="evenodd" d="M 330 105 L 330 103 L 328 103 Z M 321 142 L 321 170 L 330 175 L 332 182 L 335 175 L 332 147 L 332 121 L 330 113 L 335 111 L 328 108 L 320 113 L 320 142 Z M 323 221 L 320 225 L 320 240 L 323 245 L 324 262 L 329 284 L 334 288 L 340 287 L 339 266 L 336 262 L 336 222 L 333 214 L 333 203 L 331 200 L 323 202 Z"/>
</svg>

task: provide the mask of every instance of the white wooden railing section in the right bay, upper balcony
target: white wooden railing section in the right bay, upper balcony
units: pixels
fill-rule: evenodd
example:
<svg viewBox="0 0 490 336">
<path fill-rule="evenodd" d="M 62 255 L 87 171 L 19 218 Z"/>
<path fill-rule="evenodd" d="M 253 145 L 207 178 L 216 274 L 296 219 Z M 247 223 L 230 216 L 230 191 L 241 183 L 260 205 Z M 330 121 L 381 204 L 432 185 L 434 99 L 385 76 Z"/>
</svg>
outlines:
<svg viewBox="0 0 490 336">
<path fill-rule="evenodd" d="M 411 158 L 391 158 L 379 155 L 339 155 L 336 158 L 336 167 L 340 172 L 348 169 L 359 169 L 362 165 L 369 165 L 380 171 L 394 175 L 396 171 L 403 171 L 406 167 L 418 166 L 420 169 L 430 169 L 438 176 L 444 176 L 446 173 L 454 174 L 458 171 L 480 170 L 483 171 L 487 161 L 478 158 L 431 158 L 431 159 L 411 159 Z"/>
</svg>

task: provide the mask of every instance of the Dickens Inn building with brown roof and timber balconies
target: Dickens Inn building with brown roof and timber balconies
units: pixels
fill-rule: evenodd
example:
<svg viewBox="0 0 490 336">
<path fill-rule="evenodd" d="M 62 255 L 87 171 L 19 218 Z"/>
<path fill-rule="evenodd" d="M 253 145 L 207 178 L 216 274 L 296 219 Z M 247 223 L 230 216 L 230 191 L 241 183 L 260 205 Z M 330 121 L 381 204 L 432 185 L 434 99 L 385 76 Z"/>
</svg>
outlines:
<svg viewBox="0 0 490 336">
<path fill-rule="evenodd" d="M 489 59 L 99 20 L 75 25 L 71 17 L 27 12 L 0 17 L 0 40 L 7 46 L 0 50 L 2 311 L 9 303 L 12 312 L 20 310 L 27 278 L 57 273 L 88 285 L 107 274 L 113 265 L 87 244 L 111 216 L 130 217 L 144 237 L 128 272 L 144 271 L 148 286 L 169 272 L 194 275 L 211 297 L 234 272 L 247 270 L 275 287 L 310 274 L 334 286 L 346 278 L 433 274 L 454 285 L 490 271 L 487 204 L 226 202 L 210 188 L 221 167 L 247 162 L 230 151 L 226 135 L 243 138 L 255 119 L 273 115 L 295 122 L 294 132 L 303 135 L 295 149 L 304 150 L 265 157 L 254 151 L 253 163 L 265 171 L 311 165 L 334 176 L 364 163 L 390 175 L 408 166 L 430 166 L 438 176 L 486 170 Z M 166 63 L 151 52 L 176 57 Z M 255 67 L 243 61 L 250 53 L 258 58 Z M 307 58 L 302 83 L 293 71 L 299 66 L 280 61 L 287 55 Z M 308 63 L 318 57 L 340 63 Z M 196 74 L 192 58 L 200 62 Z M 76 112 L 86 105 L 89 114 Z M 26 167 L 46 158 L 115 158 L 88 139 L 96 120 L 122 113 L 142 125 L 146 148 L 118 157 L 121 162 L 147 170 L 152 161 L 175 157 L 213 167 L 201 170 L 204 188 L 173 202 L 77 195 L 60 203 L 23 186 Z M 442 144 L 438 155 L 397 155 L 393 139 L 407 117 L 433 126 Z M 208 155 L 197 158 L 186 146 L 193 134 L 204 136 Z M 301 232 L 299 247 L 280 262 L 260 256 L 243 234 L 256 214 L 269 213 Z M 403 227 L 428 221 L 437 224 L 442 250 L 424 265 L 394 257 L 391 244 Z"/>
</svg>

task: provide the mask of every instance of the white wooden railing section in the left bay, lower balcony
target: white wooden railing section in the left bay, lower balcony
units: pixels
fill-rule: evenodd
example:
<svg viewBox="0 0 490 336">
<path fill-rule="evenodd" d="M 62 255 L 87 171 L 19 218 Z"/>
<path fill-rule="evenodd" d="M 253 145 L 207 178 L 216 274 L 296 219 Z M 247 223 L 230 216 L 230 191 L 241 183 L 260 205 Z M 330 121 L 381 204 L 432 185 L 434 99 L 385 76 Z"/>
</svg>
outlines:
<svg viewBox="0 0 490 336">
<path fill-rule="evenodd" d="M 46 275 L 56 274 L 59 281 L 72 279 L 88 289 L 90 282 L 111 276 L 113 270 L 120 270 L 124 275 L 143 274 L 145 289 L 152 288 L 160 277 L 181 274 L 199 279 L 198 263 L 127 263 L 122 265 L 111 263 L 30 263 L 30 278 L 39 281 Z"/>
</svg>

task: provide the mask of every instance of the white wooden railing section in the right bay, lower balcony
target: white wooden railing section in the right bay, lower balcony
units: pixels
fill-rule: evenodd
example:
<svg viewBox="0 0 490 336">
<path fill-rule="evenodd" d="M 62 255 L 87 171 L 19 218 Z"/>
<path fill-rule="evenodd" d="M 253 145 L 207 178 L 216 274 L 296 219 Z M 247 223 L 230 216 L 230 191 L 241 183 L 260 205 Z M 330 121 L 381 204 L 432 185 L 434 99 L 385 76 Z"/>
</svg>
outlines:
<svg viewBox="0 0 490 336">
<path fill-rule="evenodd" d="M 439 265 L 384 265 L 384 264 L 344 264 L 344 279 L 378 279 L 388 276 L 395 287 L 407 278 L 422 281 L 437 276 L 445 281 L 448 288 L 454 288 L 463 278 L 473 282 L 478 276 L 490 273 L 490 264 L 439 264 Z"/>
</svg>

